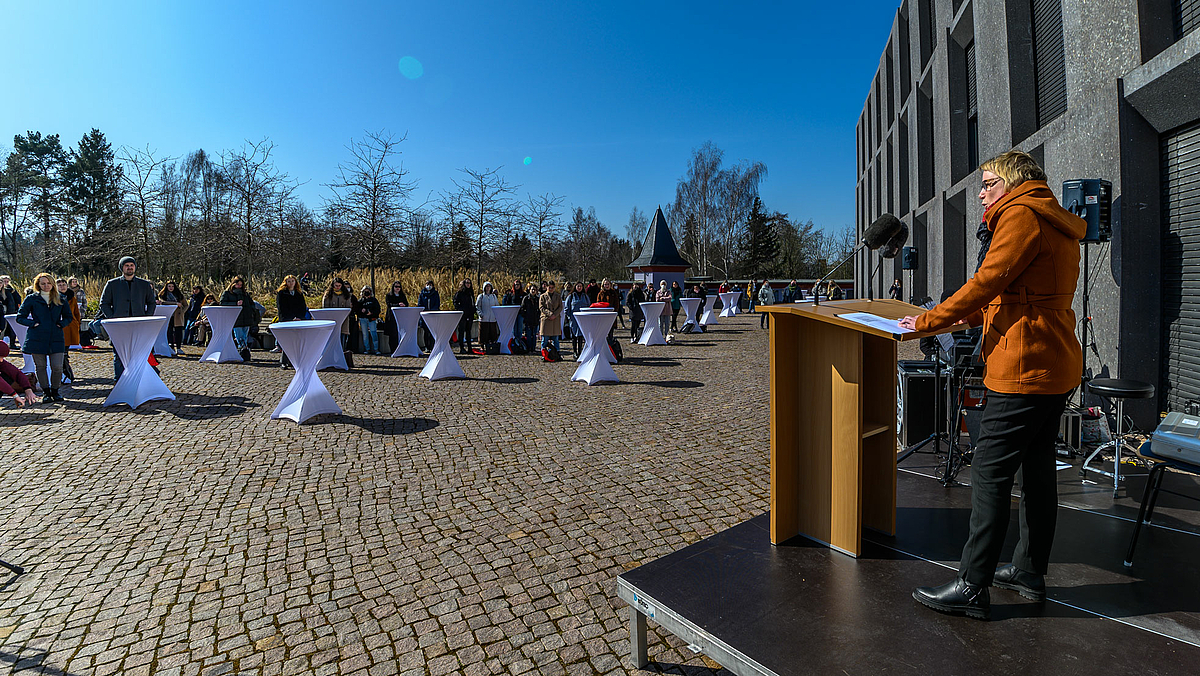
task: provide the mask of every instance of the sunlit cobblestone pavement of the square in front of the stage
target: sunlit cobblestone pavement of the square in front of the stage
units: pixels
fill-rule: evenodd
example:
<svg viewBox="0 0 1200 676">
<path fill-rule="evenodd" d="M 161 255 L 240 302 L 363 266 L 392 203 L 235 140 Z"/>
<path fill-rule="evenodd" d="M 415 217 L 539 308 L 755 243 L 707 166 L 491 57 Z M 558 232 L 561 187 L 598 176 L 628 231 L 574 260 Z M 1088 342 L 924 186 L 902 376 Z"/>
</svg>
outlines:
<svg viewBox="0 0 1200 676">
<path fill-rule="evenodd" d="M 618 328 L 618 335 L 622 335 Z M 625 334 L 628 335 L 628 334 Z M 103 345 L 103 343 L 102 343 Z M 614 578 L 763 513 L 767 331 L 721 319 L 572 363 L 323 373 L 343 415 L 268 419 L 292 371 L 168 359 L 172 402 L 0 405 L 0 669 L 26 674 L 629 674 Z M 4 580 L 7 580 L 5 582 Z M 655 670 L 719 665 L 652 622 Z"/>
</svg>

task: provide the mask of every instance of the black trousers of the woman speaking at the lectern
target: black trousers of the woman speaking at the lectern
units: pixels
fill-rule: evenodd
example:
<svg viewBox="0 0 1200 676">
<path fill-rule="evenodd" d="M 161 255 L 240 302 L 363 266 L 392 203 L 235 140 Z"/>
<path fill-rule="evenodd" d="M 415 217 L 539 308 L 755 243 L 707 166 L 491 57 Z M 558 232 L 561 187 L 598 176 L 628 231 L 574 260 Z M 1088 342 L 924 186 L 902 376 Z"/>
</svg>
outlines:
<svg viewBox="0 0 1200 676">
<path fill-rule="evenodd" d="M 1013 566 L 1045 575 L 1058 510 L 1054 444 L 1070 393 L 1001 394 L 988 390 L 971 461 L 971 534 L 959 576 L 990 586 L 1008 533 L 1013 481 L 1021 475 L 1021 539 Z"/>
</svg>

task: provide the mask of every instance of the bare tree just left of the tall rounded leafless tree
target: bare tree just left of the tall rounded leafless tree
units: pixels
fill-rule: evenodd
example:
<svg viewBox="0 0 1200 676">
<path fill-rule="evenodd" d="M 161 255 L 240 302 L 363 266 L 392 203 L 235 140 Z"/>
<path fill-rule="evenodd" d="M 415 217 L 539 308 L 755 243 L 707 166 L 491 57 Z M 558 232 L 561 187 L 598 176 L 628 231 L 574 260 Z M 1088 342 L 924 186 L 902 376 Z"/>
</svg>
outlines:
<svg viewBox="0 0 1200 676">
<path fill-rule="evenodd" d="M 256 244 L 258 233 L 268 217 L 271 199 L 280 191 L 295 189 L 288 184 L 288 175 L 275 168 L 271 151 L 275 144 L 266 138 L 258 142 L 246 142 L 239 150 L 221 155 L 222 173 L 226 185 L 234 196 L 238 208 L 239 239 L 245 261 L 245 273 L 254 273 Z"/>
</svg>

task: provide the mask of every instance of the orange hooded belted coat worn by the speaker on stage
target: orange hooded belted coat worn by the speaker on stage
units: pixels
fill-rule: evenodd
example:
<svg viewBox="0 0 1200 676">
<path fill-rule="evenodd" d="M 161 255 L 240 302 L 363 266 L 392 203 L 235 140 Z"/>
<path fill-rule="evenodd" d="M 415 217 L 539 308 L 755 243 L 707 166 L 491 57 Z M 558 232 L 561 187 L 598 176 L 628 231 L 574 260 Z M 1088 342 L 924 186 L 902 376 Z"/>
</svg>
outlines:
<svg viewBox="0 0 1200 676">
<path fill-rule="evenodd" d="M 983 324 L 988 389 L 1070 391 L 1084 370 L 1072 301 L 1079 239 L 1087 225 L 1058 204 L 1045 181 L 1022 183 L 992 205 L 986 220 L 992 239 L 983 265 L 954 295 L 918 317 L 917 330 L 960 319 Z"/>
</svg>

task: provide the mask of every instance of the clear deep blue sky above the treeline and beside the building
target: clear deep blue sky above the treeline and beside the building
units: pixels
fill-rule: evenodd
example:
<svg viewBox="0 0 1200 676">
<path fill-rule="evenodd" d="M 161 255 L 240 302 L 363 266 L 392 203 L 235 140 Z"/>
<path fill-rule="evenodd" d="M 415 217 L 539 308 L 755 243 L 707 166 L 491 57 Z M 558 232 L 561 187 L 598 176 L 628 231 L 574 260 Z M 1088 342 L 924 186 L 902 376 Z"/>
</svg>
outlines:
<svg viewBox="0 0 1200 676">
<path fill-rule="evenodd" d="M 768 208 L 853 223 L 854 125 L 899 0 L 6 5 L 2 146 L 97 127 L 182 156 L 270 137 L 316 207 L 348 140 L 388 130 L 408 134 L 418 201 L 503 166 L 522 197 L 595 207 L 624 234 L 706 140 L 767 164 Z"/>
</svg>

